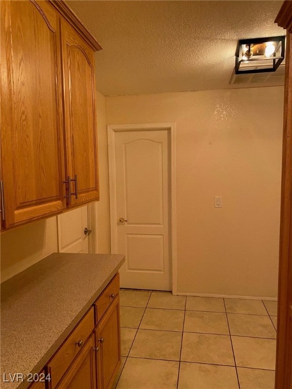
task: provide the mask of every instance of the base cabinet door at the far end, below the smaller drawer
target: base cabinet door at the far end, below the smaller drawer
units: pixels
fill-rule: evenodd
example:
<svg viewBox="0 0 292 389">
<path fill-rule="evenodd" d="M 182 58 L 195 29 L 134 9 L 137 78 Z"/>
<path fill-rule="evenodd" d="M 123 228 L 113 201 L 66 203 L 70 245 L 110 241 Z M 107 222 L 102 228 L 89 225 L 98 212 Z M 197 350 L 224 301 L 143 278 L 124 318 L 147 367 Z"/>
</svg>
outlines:
<svg viewBox="0 0 292 389">
<path fill-rule="evenodd" d="M 117 295 L 95 330 L 98 388 L 111 388 L 121 365 L 120 299 Z"/>
</svg>

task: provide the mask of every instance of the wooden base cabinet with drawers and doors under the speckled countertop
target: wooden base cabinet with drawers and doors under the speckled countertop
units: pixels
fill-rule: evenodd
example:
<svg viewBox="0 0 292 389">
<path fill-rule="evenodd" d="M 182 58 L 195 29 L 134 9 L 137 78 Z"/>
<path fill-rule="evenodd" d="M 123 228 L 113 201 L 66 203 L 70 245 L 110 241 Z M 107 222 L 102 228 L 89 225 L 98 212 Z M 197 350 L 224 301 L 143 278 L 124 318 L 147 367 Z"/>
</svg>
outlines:
<svg viewBox="0 0 292 389">
<path fill-rule="evenodd" d="M 116 274 L 48 361 L 46 389 L 112 387 L 121 365 L 119 287 Z"/>
</svg>

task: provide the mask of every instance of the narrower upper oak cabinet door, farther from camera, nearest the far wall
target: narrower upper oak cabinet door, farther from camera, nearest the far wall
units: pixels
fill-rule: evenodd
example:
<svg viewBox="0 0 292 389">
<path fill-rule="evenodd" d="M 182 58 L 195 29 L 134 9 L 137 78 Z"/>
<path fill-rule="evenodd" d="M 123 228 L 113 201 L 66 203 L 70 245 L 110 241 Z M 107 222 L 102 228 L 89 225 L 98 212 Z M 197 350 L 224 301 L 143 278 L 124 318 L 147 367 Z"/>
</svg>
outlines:
<svg viewBox="0 0 292 389">
<path fill-rule="evenodd" d="M 99 200 L 94 51 L 61 22 L 65 111 L 65 154 L 72 193 L 69 207 Z M 76 193 L 76 194 L 74 194 Z"/>
</svg>

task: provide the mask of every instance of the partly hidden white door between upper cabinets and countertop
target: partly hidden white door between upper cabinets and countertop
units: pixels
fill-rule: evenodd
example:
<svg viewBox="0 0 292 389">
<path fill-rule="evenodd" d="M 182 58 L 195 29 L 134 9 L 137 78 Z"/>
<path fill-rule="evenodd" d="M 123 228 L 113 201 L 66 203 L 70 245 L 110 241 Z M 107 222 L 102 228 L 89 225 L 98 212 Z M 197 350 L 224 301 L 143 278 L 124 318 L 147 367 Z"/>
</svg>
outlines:
<svg viewBox="0 0 292 389">
<path fill-rule="evenodd" d="M 59 253 L 88 253 L 87 206 L 58 215 Z"/>
</svg>

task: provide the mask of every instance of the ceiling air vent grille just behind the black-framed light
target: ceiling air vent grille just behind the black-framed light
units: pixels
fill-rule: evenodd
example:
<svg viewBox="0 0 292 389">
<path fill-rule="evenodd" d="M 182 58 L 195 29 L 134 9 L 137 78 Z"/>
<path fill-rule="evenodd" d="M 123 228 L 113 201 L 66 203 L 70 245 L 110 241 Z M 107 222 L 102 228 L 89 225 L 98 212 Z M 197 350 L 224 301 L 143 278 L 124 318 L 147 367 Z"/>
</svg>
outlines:
<svg viewBox="0 0 292 389">
<path fill-rule="evenodd" d="M 252 66 L 252 69 L 260 69 L 261 66 Z M 246 74 L 235 74 L 233 71 L 230 85 L 242 86 L 244 88 L 254 86 L 277 86 L 284 85 L 285 80 L 285 63 L 278 67 L 276 71 L 269 71 L 264 73 L 246 73 Z"/>
</svg>

